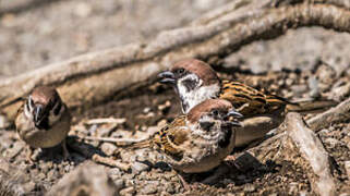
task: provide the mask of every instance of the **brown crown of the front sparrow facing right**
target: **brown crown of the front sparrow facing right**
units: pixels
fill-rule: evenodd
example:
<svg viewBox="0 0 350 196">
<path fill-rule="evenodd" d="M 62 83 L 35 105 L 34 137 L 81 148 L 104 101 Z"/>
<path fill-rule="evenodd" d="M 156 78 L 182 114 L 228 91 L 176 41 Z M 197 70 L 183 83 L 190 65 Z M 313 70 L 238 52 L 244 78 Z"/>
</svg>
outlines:
<svg viewBox="0 0 350 196">
<path fill-rule="evenodd" d="M 192 108 L 192 110 L 188 114 L 188 120 L 191 123 L 195 123 L 196 121 L 200 120 L 200 118 L 207 113 L 210 112 L 212 110 L 220 110 L 220 111 L 229 111 L 229 109 L 232 108 L 231 102 L 225 99 L 207 99 L 203 101 L 202 103 L 195 106 Z"/>
</svg>

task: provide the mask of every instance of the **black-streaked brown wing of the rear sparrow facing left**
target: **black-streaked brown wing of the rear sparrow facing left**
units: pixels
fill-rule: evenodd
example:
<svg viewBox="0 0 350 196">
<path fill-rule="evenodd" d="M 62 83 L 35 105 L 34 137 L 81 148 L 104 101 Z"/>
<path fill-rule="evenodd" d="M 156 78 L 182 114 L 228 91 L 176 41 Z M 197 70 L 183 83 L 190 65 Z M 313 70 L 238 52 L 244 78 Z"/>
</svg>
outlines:
<svg viewBox="0 0 350 196">
<path fill-rule="evenodd" d="M 220 98 L 231 101 L 238 112 L 245 117 L 268 113 L 289 103 L 278 96 L 265 95 L 242 83 L 230 81 L 222 81 Z"/>
</svg>

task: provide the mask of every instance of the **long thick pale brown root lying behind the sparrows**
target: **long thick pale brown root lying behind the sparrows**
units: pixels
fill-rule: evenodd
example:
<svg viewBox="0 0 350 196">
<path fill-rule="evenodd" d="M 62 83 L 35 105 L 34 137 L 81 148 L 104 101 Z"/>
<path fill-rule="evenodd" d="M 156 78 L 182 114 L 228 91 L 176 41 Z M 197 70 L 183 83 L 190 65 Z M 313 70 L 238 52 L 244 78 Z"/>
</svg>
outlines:
<svg viewBox="0 0 350 196">
<path fill-rule="evenodd" d="M 301 26 L 350 32 L 347 1 L 315 2 L 240 0 L 149 42 L 87 53 L 5 78 L 0 82 L 0 111 L 13 120 L 21 99 L 39 85 L 56 86 L 69 107 L 86 107 L 147 84 L 183 58 L 217 64 L 243 45 Z"/>
</svg>

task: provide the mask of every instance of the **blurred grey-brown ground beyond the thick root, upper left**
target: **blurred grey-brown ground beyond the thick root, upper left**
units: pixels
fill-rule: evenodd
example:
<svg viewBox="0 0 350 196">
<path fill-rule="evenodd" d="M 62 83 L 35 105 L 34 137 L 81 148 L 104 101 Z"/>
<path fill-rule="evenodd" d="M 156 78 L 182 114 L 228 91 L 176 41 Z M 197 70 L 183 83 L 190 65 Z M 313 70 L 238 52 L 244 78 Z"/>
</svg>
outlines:
<svg viewBox="0 0 350 196">
<path fill-rule="evenodd" d="M 0 0 L 0 77 L 142 41 L 229 0 Z"/>
</svg>

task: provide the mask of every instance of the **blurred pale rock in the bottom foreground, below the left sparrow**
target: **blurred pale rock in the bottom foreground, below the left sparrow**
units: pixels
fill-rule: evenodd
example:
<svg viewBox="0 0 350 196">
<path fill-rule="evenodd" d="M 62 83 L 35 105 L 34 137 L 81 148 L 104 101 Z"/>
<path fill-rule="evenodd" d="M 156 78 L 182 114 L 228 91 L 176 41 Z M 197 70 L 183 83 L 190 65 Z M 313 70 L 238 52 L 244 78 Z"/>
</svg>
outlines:
<svg viewBox="0 0 350 196">
<path fill-rule="evenodd" d="M 57 193 L 62 196 L 113 196 L 119 194 L 119 189 L 108 177 L 104 167 L 87 161 L 64 175 L 47 195 L 57 195 Z"/>
</svg>

